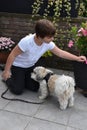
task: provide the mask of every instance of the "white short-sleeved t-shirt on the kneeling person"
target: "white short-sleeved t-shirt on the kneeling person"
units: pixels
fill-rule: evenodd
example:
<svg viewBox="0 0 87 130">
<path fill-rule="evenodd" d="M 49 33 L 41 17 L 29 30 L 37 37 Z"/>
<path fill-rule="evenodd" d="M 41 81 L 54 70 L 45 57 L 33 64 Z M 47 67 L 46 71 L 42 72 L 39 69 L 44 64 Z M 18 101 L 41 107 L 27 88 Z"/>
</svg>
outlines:
<svg viewBox="0 0 87 130">
<path fill-rule="evenodd" d="M 23 51 L 22 54 L 18 55 L 13 62 L 14 66 L 28 68 L 33 66 L 38 59 L 48 50 L 55 47 L 54 42 L 43 43 L 38 46 L 34 41 L 35 34 L 27 35 L 22 38 L 18 43 L 19 48 Z"/>
</svg>

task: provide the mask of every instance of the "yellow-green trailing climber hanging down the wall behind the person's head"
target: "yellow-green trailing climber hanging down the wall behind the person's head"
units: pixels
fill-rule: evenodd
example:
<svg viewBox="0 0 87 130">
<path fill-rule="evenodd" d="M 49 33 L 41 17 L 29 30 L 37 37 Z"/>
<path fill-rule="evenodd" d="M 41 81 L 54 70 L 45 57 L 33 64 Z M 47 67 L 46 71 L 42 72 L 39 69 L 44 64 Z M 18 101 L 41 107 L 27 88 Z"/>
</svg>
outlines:
<svg viewBox="0 0 87 130">
<path fill-rule="evenodd" d="M 81 0 L 34 0 L 32 8 L 32 19 L 37 16 L 51 19 L 56 27 L 54 42 L 58 43 L 58 46 L 63 49 L 65 45 L 64 40 L 66 39 L 64 34 L 69 35 L 71 18 L 83 14 L 84 4 Z M 72 12 L 73 9 L 75 12 Z M 66 26 L 68 26 L 65 30 L 58 26 L 58 22 L 61 22 L 61 20 L 62 22 L 66 21 Z M 61 34 L 61 36 L 58 34 Z M 46 54 L 51 55 L 49 52 Z"/>
</svg>

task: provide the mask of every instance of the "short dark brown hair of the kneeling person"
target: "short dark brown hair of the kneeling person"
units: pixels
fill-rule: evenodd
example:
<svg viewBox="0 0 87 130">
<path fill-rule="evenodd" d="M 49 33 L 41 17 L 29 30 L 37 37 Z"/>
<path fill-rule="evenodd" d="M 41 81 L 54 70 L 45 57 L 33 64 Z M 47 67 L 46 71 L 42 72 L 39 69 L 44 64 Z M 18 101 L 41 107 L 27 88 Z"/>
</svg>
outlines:
<svg viewBox="0 0 87 130">
<path fill-rule="evenodd" d="M 35 32 L 37 37 L 52 37 L 55 35 L 56 29 L 51 21 L 47 19 L 41 19 L 36 22 Z"/>
</svg>

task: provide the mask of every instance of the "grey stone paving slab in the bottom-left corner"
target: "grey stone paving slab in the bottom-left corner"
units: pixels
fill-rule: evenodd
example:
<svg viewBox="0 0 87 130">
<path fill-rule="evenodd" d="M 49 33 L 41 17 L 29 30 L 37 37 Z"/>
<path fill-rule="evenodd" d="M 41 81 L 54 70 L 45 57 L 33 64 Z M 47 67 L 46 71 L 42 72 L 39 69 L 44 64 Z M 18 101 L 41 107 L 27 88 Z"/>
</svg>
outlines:
<svg viewBox="0 0 87 130">
<path fill-rule="evenodd" d="M 30 117 L 24 115 L 1 110 L 0 130 L 24 130 L 30 119 Z"/>
</svg>

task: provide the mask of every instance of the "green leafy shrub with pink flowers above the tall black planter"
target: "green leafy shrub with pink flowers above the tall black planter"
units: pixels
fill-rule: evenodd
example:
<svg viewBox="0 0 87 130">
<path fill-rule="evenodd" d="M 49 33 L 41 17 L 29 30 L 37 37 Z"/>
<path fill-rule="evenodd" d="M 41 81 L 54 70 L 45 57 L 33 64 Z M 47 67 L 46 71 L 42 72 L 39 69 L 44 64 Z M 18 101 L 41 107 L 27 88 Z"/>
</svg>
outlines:
<svg viewBox="0 0 87 130">
<path fill-rule="evenodd" d="M 68 47 L 75 47 L 81 55 L 87 56 L 87 22 L 82 23 L 80 29 L 77 26 L 72 27 L 72 40 L 69 41 Z"/>
</svg>

